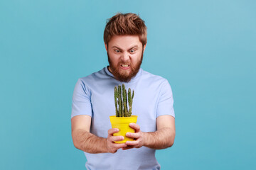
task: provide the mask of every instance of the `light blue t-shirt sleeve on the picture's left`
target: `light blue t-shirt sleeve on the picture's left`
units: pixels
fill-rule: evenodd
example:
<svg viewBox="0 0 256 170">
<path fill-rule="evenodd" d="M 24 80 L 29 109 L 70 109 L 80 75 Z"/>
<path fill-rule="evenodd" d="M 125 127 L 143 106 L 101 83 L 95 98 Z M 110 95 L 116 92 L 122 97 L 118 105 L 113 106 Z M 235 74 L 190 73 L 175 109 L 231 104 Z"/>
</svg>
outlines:
<svg viewBox="0 0 256 170">
<path fill-rule="evenodd" d="M 90 90 L 86 87 L 82 79 L 78 79 L 73 92 L 71 118 L 73 118 L 75 115 L 92 116 L 92 104 L 90 96 Z"/>
</svg>

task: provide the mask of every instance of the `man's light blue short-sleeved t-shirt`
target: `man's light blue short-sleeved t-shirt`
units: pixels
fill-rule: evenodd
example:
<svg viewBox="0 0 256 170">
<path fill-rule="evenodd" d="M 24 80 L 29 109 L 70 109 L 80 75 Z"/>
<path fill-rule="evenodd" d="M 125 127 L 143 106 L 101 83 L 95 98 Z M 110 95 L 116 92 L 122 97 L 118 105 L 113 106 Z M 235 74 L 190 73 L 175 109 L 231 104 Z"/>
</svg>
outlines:
<svg viewBox="0 0 256 170">
<path fill-rule="evenodd" d="M 134 90 L 132 115 L 137 115 L 137 124 L 142 132 L 156 131 L 159 115 L 174 115 L 174 99 L 169 82 L 163 77 L 144 71 L 142 68 L 128 83 L 117 81 L 113 74 L 103 68 L 99 72 L 78 79 L 73 93 L 71 118 L 75 115 L 90 115 L 90 132 L 107 138 L 111 128 L 110 115 L 115 115 L 114 86 L 124 84 Z M 155 149 L 118 149 L 116 153 L 90 154 L 85 152 L 87 169 L 160 169 Z"/>
</svg>

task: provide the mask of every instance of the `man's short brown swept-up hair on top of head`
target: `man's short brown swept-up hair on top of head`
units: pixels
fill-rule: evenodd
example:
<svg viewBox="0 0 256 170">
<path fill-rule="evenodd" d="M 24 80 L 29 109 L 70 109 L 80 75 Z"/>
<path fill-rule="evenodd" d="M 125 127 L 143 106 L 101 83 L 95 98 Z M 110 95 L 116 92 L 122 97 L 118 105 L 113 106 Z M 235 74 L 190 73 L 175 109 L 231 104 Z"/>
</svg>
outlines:
<svg viewBox="0 0 256 170">
<path fill-rule="evenodd" d="M 107 20 L 104 30 L 106 45 L 114 35 L 139 35 L 142 47 L 146 45 L 146 25 L 135 13 L 117 13 Z"/>
</svg>

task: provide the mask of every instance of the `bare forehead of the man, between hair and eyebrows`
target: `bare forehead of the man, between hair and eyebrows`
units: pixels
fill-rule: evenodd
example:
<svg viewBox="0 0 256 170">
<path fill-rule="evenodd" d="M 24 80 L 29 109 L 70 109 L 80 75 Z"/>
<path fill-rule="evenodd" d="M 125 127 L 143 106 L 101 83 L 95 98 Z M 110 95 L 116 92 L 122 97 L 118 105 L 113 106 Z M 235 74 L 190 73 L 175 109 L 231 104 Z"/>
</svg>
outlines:
<svg viewBox="0 0 256 170">
<path fill-rule="evenodd" d="M 135 45 L 142 47 L 142 42 L 140 42 L 138 35 L 114 35 L 108 45 L 109 47 L 116 46 L 122 49 L 129 49 Z"/>
</svg>

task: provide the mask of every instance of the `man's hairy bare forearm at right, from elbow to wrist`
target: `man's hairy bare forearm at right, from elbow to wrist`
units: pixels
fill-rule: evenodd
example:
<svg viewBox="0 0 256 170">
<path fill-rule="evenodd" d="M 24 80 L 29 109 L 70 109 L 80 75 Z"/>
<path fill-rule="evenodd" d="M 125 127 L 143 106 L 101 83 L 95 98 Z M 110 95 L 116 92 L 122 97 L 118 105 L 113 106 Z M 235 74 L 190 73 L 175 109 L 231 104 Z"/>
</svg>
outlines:
<svg viewBox="0 0 256 170">
<path fill-rule="evenodd" d="M 162 128 L 156 132 L 144 132 L 144 146 L 152 149 L 165 149 L 174 145 L 175 131 Z"/>
</svg>

